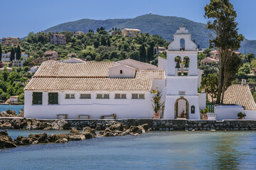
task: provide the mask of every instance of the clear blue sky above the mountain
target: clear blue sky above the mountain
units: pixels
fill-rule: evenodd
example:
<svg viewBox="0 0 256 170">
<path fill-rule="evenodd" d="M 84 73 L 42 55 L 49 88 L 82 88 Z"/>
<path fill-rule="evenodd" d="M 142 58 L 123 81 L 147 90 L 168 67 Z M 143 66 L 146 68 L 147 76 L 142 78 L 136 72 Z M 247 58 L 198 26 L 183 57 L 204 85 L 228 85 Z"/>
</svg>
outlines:
<svg viewBox="0 0 256 170">
<path fill-rule="evenodd" d="M 30 32 L 82 18 L 135 18 L 152 11 L 206 23 L 203 7 L 210 0 L 8 0 L 1 1 L 0 38 L 20 37 Z M 239 33 L 256 40 L 256 1 L 230 0 L 238 13 Z"/>
</svg>

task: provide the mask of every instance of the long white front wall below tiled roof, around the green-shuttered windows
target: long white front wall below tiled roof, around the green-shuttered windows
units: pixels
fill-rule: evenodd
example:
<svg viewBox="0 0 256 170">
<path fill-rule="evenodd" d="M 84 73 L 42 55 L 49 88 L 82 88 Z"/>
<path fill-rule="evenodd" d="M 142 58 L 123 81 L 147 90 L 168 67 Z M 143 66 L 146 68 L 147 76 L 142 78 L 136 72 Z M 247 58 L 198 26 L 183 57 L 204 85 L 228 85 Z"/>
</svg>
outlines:
<svg viewBox="0 0 256 170">
<path fill-rule="evenodd" d="M 55 92 L 55 91 L 50 91 Z M 80 93 L 91 94 L 91 99 L 80 99 Z M 78 115 L 90 115 L 92 119 L 99 119 L 101 115 L 117 114 L 117 118 L 153 118 L 154 110 L 151 106 L 149 91 L 139 91 L 145 94 L 145 99 L 131 99 L 132 91 L 76 91 L 75 99 L 65 99 L 65 94 L 73 91 L 59 92 L 58 105 L 48 105 L 48 92 L 43 92 L 43 104 L 32 105 L 32 91 L 25 91 L 25 118 L 57 118 L 58 114 L 68 114 L 68 118 L 75 119 Z M 96 94 L 110 94 L 110 99 L 96 99 Z M 127 94 L 127 99 L 114 99 L 114 94 Z M 138 91 L 134 91 L 138 93 Z"/>
</svg>

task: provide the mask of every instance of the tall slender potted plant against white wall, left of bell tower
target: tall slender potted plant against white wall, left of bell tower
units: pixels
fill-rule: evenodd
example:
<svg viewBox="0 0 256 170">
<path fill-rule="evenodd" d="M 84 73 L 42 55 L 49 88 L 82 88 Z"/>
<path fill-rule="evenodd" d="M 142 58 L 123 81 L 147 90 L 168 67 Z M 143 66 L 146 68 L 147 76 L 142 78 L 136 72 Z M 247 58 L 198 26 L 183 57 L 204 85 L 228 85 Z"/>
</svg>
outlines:
<svg viewBox="0 0 256 170">
<path fill-rule="evenodd" d="M 160 115 L 159 115 L 159 111 L 161 110 L 161 108 L 164 106 L 164 102 L 161 102 L 161 90 L 157 90 L 158 88 L 156 87 L 156 90 L 153 90 L 153 93 L 154 96 L 152 98 L 152 106 L 153 106 L 153 109 L 154 109 L 154 118 L 155 119 L 159 119 L 160 118 Z"/>
</svg>

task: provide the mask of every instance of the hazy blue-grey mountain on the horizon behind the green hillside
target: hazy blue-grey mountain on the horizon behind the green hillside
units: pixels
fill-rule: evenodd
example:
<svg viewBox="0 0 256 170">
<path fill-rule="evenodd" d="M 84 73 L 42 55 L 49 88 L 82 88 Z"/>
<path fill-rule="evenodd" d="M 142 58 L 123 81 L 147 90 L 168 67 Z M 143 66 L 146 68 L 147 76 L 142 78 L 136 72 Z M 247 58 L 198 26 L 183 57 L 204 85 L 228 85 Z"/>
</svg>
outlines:
<svg viewBox="0 0 256 170">
<path fill-rule="evenodd" d="M 192 40 L 196 41 L 196 44 L 200 47 L 207 48 L 209 45 L 209 38 L 212 33 L 210 30 L 206 30 L 205 23 L 196 23 L 194 21 L 188 20 L 186 18 L 176 17 L 176 16 L 159 16 L 146 14 L 143 16 L 137 16 L 136 18 L 127 19 L 107 19 L 107 20 L 91 20 L 91 19 L 81 19 L 78 21 L 62 23 L 58 26 L 53 26 L 45 30 L 46 32 L 62 32 L 62 31 L 78 31 L 82 30 L 87 33 L 88 30 L 95 30 L 104 27 L 106 30 L 111 30 L 112 28 L 138 28 L 142 30 L 142 33 L 149 33 L 151 35 L 160 35 L 165 40 L 173 40 L 173 35 L 176 30 L 183 24 L 183 26 L 188 29 L 191 33 Z M 256 54 L 256 40 L 247 40 L 241 43 L 242 47 L 240 52 L 246 53 L 253 52 Z"/>
</svg>

